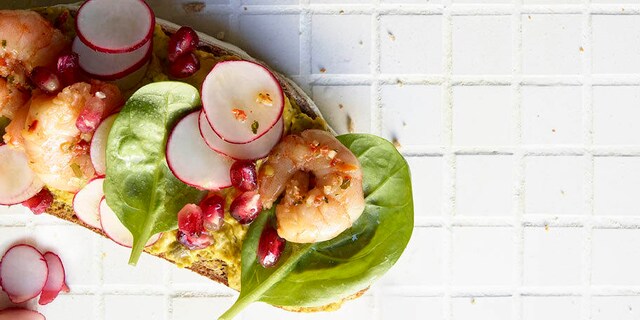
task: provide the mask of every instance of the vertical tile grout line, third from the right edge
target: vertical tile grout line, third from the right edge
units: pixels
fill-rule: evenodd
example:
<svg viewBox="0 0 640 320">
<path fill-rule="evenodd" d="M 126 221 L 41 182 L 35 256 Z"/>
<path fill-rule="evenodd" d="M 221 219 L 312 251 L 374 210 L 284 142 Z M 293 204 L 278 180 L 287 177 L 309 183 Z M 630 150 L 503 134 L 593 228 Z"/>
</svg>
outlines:
<svg viewBox="0 0 640 320">
<path fill-rule="evenodd" d="M 443 239 L 442 239 L 442 273 L 445 285 L 442 294 L 443 319 L 453 319 L 453 300 L 451 287 L 453 278 L 453 229 L 451 221 L 456 210 L 456 156 L 450 149 L 453 143 L 453 88 L 451 75 L 453 71 L 453 18 L 451 16 L 451 0 L 444 0 L 442 15 L 442 142 L 443 142 Z"/>
</svg>

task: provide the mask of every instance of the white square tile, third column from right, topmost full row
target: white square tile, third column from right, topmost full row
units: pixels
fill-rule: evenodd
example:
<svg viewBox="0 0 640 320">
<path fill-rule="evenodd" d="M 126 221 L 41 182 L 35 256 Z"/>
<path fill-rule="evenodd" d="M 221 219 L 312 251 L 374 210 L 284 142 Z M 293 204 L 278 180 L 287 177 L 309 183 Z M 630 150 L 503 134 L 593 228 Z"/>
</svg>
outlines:
<svg viewBox="0 0 640 320">
<path fill-rule="evenodd" d="M 511 51 L 511 17 L 453 17 L 454 74 L 511 74 Z"/>
</svg>

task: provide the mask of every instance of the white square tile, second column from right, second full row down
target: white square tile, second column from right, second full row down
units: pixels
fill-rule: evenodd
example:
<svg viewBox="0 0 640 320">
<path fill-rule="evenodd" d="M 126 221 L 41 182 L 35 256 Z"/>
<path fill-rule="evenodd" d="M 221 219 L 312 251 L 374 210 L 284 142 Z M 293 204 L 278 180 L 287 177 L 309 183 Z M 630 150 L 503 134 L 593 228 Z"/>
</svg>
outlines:
<svg viewBox="0 0 640 320">
<path fill-rule="evenodd" d="M 522 87 L 522 143 L 580 144 L 582 88 Z"/>
</svg>

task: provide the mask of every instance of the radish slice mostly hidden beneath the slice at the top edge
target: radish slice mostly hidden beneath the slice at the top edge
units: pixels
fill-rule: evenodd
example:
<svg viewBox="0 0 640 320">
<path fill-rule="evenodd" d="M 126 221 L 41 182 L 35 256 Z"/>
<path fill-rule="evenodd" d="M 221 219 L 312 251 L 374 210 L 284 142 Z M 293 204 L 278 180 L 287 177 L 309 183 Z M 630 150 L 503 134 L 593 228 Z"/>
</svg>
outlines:
<svg viewBox="0 0 640 320">
<path fill-rule="evenodd" d="M 87 47 L 78 37 L 72 45 L 73 52 L 78 54 L 80 68 L 100 80 L 117 80 L 134 73 L 147 64 L 152 49 L 149 41 L 131 52 L 103 53 Z"/>
</svg>

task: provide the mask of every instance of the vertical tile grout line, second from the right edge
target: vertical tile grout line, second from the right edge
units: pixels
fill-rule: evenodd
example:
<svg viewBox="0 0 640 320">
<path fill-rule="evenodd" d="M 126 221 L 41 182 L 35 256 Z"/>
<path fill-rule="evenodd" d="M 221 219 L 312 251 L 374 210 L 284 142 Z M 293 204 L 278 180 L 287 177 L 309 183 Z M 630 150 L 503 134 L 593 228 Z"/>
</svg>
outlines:
<svg viewBox="0 0 640 320">
<path fill-rule="evenodd" d="M 515 0 L 513 5 L 513 12 L 511 14 L 511 36 L 513 41 L 512 47 L 512 68 L 513 68 L 513 83 L 511 88 L 513 90 L 513 123 L 515 124 L 514 144 L 522 144 L 522 84 L 520 81 L 522 75 L 523 53 L 522 53 L 522 0 Z M 523 227 L 523 215 L 524 215 L 524 200 L 525 200 L 525 169 L 526 162 L 525 156 L 522 150 L 518 150 L 514 154 L 515 167 L 515 181 L 514 181 L 514 251 L 515 251 L 515 274 L 514 274 L 514 289 L 512 295 L 512 316 L 514 320 L 520 320 L 523 317 L 522 314 L 522 285 L 524 274 L 524 227 Z"/>
</svg>

